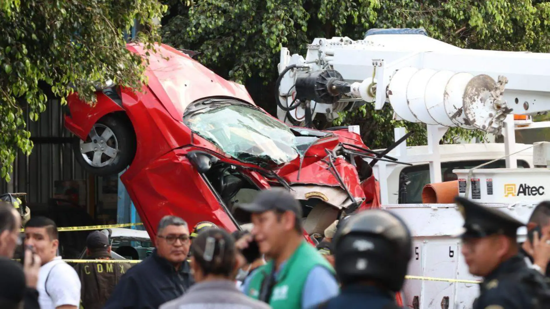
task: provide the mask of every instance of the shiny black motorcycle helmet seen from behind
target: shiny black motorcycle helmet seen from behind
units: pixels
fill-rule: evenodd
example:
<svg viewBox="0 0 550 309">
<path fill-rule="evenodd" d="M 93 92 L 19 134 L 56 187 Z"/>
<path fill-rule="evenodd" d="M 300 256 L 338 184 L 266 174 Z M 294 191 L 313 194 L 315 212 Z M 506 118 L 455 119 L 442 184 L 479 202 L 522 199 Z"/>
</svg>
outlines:
<svg viewBox="0 0 550 309">
<path fill-rule="evenodd" d="M 334 268 L 342 284 L 363 280 L 397 292 L 412 257 L 412 238 L 403 220 L 382 209 L 361 211 L 334 235 Z"/>
</svg>

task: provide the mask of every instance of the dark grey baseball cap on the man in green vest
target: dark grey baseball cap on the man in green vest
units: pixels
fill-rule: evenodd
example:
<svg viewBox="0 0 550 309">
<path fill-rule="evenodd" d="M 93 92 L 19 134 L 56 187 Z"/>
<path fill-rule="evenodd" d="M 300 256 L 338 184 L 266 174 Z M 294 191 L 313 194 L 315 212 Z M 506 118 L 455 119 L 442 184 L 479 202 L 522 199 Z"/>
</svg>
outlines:
<svg viewBox="0 0 550 309">
<path fill-rule="evenodd" d="M 252 213 L 266 211 L 292 211 L 296 217 L 302 217 L 300 202 L 289 191 L 279 188 L 261 191 L 251 203 L 236 205 L 234 213 L 244 222 L 250 222 Z"/>
</svg>

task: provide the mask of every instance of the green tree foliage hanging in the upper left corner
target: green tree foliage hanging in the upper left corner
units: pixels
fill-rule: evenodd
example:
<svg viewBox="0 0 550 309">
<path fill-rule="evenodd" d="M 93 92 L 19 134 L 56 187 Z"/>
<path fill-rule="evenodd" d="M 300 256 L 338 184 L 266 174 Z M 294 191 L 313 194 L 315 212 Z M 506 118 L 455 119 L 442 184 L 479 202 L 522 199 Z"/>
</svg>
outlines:
<svg viewBox="0 0 550 309">
<path fill-rule="evenodd" d="M 9 181 L 17 148 L 30 154 L 23 107 L 31 121 L 47 108 L 47 96 L 70 93 L 93 103 L 93 85 L 111 79 L 138 87 L 143 59 L 125 47 L 137 20 L 136 41 L 160 41 L 156 20 L 166 11 L 157 0 L 4 0 L 0 5 L 0 176 Z"/>
</svg>

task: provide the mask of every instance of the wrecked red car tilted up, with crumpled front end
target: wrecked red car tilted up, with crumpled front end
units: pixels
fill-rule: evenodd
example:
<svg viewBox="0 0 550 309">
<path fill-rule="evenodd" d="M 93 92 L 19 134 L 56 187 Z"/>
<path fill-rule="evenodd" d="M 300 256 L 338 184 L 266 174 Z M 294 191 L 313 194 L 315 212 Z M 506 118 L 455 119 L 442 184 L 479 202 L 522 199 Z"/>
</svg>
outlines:
<svg viewBox="0 0 550 309">
<path fill-rule="evenodd" d="M 81 139 L 75 153 L 89 172 L 128 167 L 121 180 L 151 236 L 167 214 L 233 231 L 248 223 L 234 216 L 234 205 L 274 186 L 300 200 L 309 235 L 377 203 L 362 159 L 372 154 L 360 135 L 288 126 L 257 107 L 244 86 L 172 47 L 157 48 L 149 63 L 140 91 L 97 91 L 94 107 L 70 96 L 65 126 Z"/>
</svg>

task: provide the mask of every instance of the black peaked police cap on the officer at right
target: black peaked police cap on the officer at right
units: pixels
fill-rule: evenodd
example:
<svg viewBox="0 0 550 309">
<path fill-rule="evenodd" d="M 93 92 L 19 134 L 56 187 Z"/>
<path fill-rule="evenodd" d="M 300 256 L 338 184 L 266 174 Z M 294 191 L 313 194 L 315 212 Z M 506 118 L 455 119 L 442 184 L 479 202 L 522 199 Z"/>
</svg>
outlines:
<svg viewBox="0 0 550 309">
<path fill-rule="evenodd" d="M 494 234 L 516 237 L 518 228 L 525 224 L 497 209 L 484 207 L 464 197 L 455 198 L 464 217 L 461 238 L 482 238 Z"/>
</svg>

